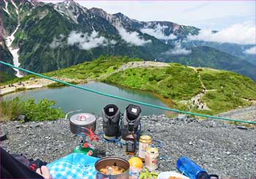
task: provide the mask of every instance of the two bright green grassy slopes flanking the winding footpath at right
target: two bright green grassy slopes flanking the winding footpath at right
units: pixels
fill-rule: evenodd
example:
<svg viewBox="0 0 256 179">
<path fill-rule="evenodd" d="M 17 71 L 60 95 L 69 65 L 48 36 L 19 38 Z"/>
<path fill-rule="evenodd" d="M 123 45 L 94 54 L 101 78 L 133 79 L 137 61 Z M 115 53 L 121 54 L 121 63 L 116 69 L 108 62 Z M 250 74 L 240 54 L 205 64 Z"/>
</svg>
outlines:
<svg viewBox="0 0 256 179">
<path fill-rule="evenodd" d="M 251 104 L 244 99 L 256 99 L 256 83 L 249 77 L 214 69 L 200 69 L 199 73 L 206 88 L 217 91 L 208 91 L 201 99 L 211 110 L 193 110 L 194 112 L 210 115 L 222 113 Z M 153 91 L 176 102 L 191 99 L 202 90 L 196 72 L 179 64 L 170 64 L 170 67 L 162 69 L 127 69 L 110 75 L 103 81 Z M 178 105 L 178 107 L 186 110 L 184 106 Z"/>
</svg>

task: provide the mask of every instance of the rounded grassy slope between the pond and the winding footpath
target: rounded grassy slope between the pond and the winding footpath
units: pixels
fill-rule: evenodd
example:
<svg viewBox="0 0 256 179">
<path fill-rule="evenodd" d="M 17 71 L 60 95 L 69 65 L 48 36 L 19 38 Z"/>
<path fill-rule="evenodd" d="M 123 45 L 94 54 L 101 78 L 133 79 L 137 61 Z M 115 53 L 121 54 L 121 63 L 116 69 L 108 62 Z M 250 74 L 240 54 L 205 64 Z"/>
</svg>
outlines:
<svg viewBox="0 0 256 179">
<path fill-rule="evenodd" d="M 166 98 L 191 99 L 202 90 L 197 74 L 181 64 L 157 68 L 136 68 L 118 72 L 103 80 L 161 94 Z"/>
</svg>

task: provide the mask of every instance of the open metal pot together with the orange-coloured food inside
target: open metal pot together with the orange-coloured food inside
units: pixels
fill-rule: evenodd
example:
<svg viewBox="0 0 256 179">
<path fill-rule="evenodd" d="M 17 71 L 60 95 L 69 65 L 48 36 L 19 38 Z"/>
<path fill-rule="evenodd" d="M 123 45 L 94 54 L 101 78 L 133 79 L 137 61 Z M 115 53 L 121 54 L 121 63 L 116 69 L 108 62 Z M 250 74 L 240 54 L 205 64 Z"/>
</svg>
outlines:
<svg viewBox="0 0 256 179">
<path fill-rule="evenodd" d="M 95 165 L 96 178 L 129 178 L 129 162 L 118 157 L 105 157 L 99 159 Z"/>
</svg>

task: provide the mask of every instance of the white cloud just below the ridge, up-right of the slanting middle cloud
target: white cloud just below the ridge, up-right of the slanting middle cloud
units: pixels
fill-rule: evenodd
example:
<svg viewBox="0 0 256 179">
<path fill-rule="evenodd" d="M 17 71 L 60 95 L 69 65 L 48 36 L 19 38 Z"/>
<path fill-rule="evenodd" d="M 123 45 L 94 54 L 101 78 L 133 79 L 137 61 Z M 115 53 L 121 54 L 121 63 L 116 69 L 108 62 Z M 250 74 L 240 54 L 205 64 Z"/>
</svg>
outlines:
<svg viewBox="0 0 256 179">
<path fill-rule="evenodd" d="M 176 39 L 176 36 L 174 34 L 170 34 L 169 36 L 166 36 L 164 34 L 165 28 L 168 28 L 168 26 L 161 26 L 159 23 L 157 24 L 157 28 L 141 28 L 140 31 L 151 35 L 153 37 L 156 37 L 157 39 Z"/>
</svg>

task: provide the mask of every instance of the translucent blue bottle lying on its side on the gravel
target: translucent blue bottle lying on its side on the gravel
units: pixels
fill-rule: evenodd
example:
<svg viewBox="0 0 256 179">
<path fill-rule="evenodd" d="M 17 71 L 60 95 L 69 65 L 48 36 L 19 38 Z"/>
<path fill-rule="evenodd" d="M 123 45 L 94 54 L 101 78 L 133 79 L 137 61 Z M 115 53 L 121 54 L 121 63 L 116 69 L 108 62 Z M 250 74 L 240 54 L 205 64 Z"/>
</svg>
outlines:
<svg viewBox="0 0 256 179">
<path fill-rule="evenodd" d="M 187 158 L 187 156 L 178 159 L 176 167 L 182 174 L 191 179 L 207 179 L 211 177 L 218 178 L 217 175 L 208 175 L 206 170 L 199 167 L 195 162 Z"/>
</svg>

